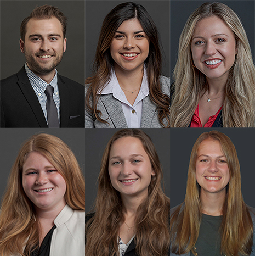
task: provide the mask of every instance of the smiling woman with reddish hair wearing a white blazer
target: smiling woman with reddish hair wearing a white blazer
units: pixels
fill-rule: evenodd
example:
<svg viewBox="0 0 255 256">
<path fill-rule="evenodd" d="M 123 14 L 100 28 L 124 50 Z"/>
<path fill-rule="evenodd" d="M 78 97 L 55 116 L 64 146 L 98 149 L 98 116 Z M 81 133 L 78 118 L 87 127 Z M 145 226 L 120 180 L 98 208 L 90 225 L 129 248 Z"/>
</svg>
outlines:
<svg viewBox="0 0 255 256">
<path fill-rule="evenodd" d="M 41 133 L 27 140 L 0 210 L 2 256 L 84 256 L 85 182 L 71 149 Z"/>
</svg>

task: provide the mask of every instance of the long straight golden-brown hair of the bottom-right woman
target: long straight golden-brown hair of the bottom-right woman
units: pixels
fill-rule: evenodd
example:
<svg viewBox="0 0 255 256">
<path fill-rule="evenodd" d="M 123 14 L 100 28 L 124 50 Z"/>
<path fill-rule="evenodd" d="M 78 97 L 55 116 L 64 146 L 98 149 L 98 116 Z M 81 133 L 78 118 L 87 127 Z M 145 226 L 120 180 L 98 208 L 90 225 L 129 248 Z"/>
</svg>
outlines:
<svg viewBox="0 0 255 256">
<path fill-rule="evenodd" d="M 201 223 L 200 186 L 196 182 L 196 160 L 203 140 L 218 141 L 228 163 L 230 180 L 223 204 L 223 220 L 220 226 L 221 252 L 224 255 L 250 255 L 253 245 L 253 223 L 241 192 L 240 165 L 236 149 L 228 136 L 219 131 L 202 133 L 197 138 L 190 155 L 185 203 L 171 214 L 171 251 L 189 253 L 199 236 Z M 195 255 L 195 254 L 194 254 Z"/>
</svg>

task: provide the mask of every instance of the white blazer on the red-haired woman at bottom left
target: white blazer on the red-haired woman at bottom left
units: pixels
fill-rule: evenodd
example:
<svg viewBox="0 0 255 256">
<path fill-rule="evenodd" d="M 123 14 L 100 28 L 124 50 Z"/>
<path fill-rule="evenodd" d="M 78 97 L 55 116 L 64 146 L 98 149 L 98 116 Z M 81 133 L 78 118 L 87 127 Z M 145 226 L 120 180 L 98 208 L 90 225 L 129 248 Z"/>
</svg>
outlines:
<svg viewBox="0 0 255 256">
<path fill-rule="evenodd" d="M 85 212 L 67 204 L 54 220 L 50 256 L 85 255 Z M 20 256 L 20 255 L 13 255 Z"/>
</svg>

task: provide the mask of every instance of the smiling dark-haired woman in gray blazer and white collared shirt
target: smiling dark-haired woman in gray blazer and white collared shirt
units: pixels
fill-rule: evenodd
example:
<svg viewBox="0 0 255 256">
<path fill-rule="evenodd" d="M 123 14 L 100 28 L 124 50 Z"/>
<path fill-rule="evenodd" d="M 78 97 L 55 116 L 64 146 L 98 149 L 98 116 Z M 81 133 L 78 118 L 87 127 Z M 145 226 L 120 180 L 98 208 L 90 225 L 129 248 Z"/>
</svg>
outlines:
<svg viewBox="0 0 255 256">
<path fill-rule="evenodd" d="M 86 80 L 86 127 L 169 127 L 169 79 L 157 27 L 137 3 L 106 15 Z"/>
</svg>

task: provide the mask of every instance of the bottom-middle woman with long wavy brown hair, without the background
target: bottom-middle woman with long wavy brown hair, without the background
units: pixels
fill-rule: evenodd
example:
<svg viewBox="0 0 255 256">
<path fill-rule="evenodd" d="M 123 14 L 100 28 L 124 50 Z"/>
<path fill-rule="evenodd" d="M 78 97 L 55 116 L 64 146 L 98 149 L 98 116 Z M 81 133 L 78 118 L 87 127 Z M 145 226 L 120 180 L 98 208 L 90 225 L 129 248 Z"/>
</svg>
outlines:
<svg viewBox="0 0 255 256">
<path fill-rule="evenodd" d="M 170 201 L 154 144 L 138 129 L 107 143 L 94 213 L 86 215 L 86 256 L 169 255 Z"/>
</svg>

